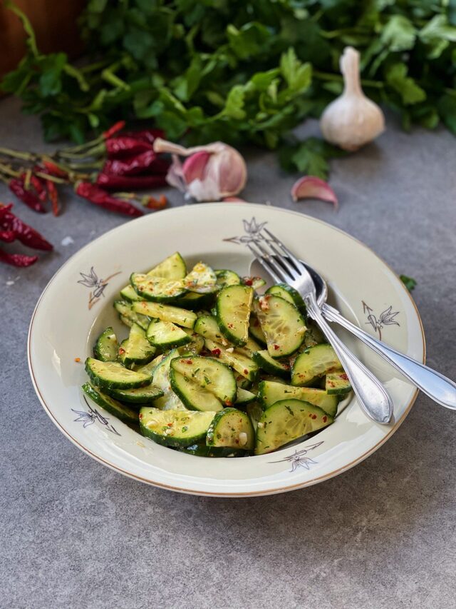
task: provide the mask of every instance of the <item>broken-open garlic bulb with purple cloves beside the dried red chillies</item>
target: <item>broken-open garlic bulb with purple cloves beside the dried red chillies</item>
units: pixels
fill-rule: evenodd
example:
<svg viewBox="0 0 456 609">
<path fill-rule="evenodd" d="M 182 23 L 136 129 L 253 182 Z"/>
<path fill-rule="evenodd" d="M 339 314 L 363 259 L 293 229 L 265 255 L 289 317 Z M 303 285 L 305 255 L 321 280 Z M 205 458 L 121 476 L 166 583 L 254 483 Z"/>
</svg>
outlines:
<svg viewBox="0 0 456 609">
<path fill-rule="evenodd" d="M 232 146 L 214 142 L 186 149 L 161 138 L 157 138 L 153 146 L 155 152 L 173 155 L 167 182 L 197 201 L 219 201 L 236 196 L 245 186 L 247 166 Z M 178 156 L 187 157 L 183 165 Z"/>
</svg>

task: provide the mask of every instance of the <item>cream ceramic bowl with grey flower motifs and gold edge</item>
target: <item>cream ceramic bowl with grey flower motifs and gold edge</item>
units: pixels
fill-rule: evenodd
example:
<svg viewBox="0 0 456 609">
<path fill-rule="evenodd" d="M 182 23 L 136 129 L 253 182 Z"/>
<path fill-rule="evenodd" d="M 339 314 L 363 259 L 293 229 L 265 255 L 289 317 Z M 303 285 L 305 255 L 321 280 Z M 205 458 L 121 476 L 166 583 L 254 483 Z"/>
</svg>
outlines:
<svg viewBox="0 0 456 609">
<path fill-rule="evenodd" d="M 132 271 L 173 251 L 188 263 L 247 274 L 245 243 L 262 223 L 328 281 L 330 302 L 351 321 L 424 361 L 418 311 L 395 273 L 346 233 L 301 213 L 252 203 L 202 203 L 130 221 L 89 243 L 48 283 L 31 319 L 28 363 L 38 398 L 56 426 L 88 455 L 131 478 L 183 493 L 283 493 L 342 473 L 381 446 L 403 422 L 416 391 L 344 331 L 340 336 L 383 381 L 394 402 L 388 426 L 369 420 L 350 398 L 335 423 L 293 448 L 247 458 L 202 458 L 158 446 L 85 400 L 83 362 L 108 325 L 126 333 L 113 310 Z M 123 328 L 123 329 L 122 329 Z M 76 362 L 75 358 L 81 358 Z"/>
</svg>

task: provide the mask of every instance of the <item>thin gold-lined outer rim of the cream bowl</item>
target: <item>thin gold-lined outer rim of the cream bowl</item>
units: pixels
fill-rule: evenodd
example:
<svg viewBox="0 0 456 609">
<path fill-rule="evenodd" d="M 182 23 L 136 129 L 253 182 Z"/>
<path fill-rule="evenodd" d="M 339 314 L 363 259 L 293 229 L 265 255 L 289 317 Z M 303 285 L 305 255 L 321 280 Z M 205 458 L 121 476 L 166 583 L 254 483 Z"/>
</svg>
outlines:
<svg viewBox="0 0 456 609">
<path fill-rule="evenodd" d="M 192 203 L 192 207 L 207 207 L 207 206 L 217 206 L 217 207 L 224 207 L 226 206 L 227 203 L 223 203 L 223 202 L 211 202 L 211 203 Z M 248 201 L 242 202 L 242 203 L 236 203 L 237 206 L 239 206 L 239 208 L 241 207 L 255 207 L 255 208 L 263 208 L 264 204 L 262 203 L 249 203 Z M 164 209 L 159 211 L 158 213 L 160 214 L 168 214 L 168 213 L 175 213 L 176 211 L 180 210 L 182 206 L 177 206 L 177 207 L 172 207 L 169 209 Z M 268 206 L 269 207 L 269 206 Z M 398 276 L 398 273 L 396 273 L 393 268 L 391 268 L 391 266 L 385 262 L 383 260 L 383 258 L 381 258 L 380 256 L 378 256 L 377 253 L 375 253 L 375 251 L 373 251 L 369 246 L 366 245 L 366 243 L 363 243 L 363 241 L 360 241 L 358 238 L 353 237 L 351 234 L 347 233 L 346 231 L 343 231 L 341 228 L 338 228 L 337 226 L 333 226 L 332 224 L 325 222 L 323 220 L 320 220 L 319 218 L 314 218 L 313 216 L 309 216 L 306 213 L 301 213 L 299 211 L 294 211 L 291 209 L 284 209 L 281 208 L 279 206 L 271 206 L 274 209 L 281 211 L 283 213 L 289 213 L 291 215 L 294 216 L 299 216 L 299 217 L 304 217 L 304 218 L 308 218 L 311 221 L 323 224 L 323 226 L 326 226 L 328 228 L 331 228 L 331 230 L 333 231 L 338 231 L 339 233 L 342 233 L 343 236 L 350 238 L 352 241 L 355 241 L 356 243 L 358 243 L 358 245 L 362 246 L 363 248 L 367 249 L 371 254 L 373 254 L 373 256 L 375 256 L 375 258 L 378 259 L 378 261 L 380 261 L 380 263 L 382 263 L 384 266 L 386 266 L 389 271 L 391 273 L 393 273 L 393 275 L 398 278 L 398 281 L 400 283 L 400 285 L 403 287 L 403 291 L 407 294 L 408 298 L 410 299 L 410 302 L 412 303 L 413 308 L 415 309 L 415 313 L 416 316 L 418 318 L 418 323 L 419 323 L 419 327 L 420 327 L 420 333 L 421 333 L 421 339 L 423 341 L 423 364 L 426 361 L 426 341 L 425 341 L 425 333 L 424 333 L 424 328 L 423 328 L 423 321 L 421 319 L 420 313 L 418 311 L 418 307 L 416 306 L 415 301 L 413 300 L 412 295 L 410 294 L 410 292 L 408 291 L 408 289 L 403 285 L 403 282 L 400 281 L 400 277 Z M 155 215 L 155 214 L 154 214 Z M 134 223 L 134 222 L 140 222 L 140 221 L 144 221 L 145 218 L 147 218 L 147 216 L 142 216 L 140 218 L 135 218 L 135 220 L 133 221 L 129 221 L 128 224 L 130 225 L 130 223 Z M 88 456 L 92 457 L 93 459 L 95 459 L 96 461 L 98 461 L 98 463 L 102 463 L 103 465 L 107 465 L 108 468 L 117 471 L 119 473 L 122 473 L 123 475 L 128 476 L 128 478 L 133 478 L 133 480 L 138 480 L 139 482 L 142 483 L 146 483 L 152 486 L 155 486 L 157 488 L 164 488 L 165 490 L 172 490 L 178 493 L 184 493 L 187 495 L 204 495 L 207 497 L 228 497 L 228 498 L 242 498 L 242 497 L 255 497 L 255 496 L 264 496 L 264 495 L 276 495 L 278 493 L 286 493 L 289 492 L 291 490 L 299 490 L 300 488 L 306 488 L 308 486 L 312 486 L 314 484 L 323 482 L 324 480 L 329 480 L 333 477 L 335 477 L 336 475 L 339 475 L 353 467 L 355 467 L 356 465 L 358 465 L 358 463 L 361 463 L 363 460 L 365 460 L 366 458 L 368 458 L 369 456 L 371 456 L 373 453 L 375 453 L 375 451 L 378 450 L 378 448 L 380 448 L 380 446 L 382 446 L 386 441 L 389 440 L 389 438 L 391 436 L 393 436 L 393 433 L 395 433 L 395 431 L 398 430 L 398 428 L 402 425 L 403 421 L 405 421 L 405 418 L 408 416 L 408 413 L 410 413 L 410 410 L 413 406 L 413 404 L 416 401 L 416 398 L 418 397 L 418 393 L 420 393 L 420 390 L 418 388 L 415 389 L 415 393 L 413 393 L 413 395 L 410 397 L 408 405 L 405 408 L 405 411 L 403 413 L 403 415 L 397 420 L 395 421 L 393 427 L 390 429 L 390 431 L 383 437 L 381 438 L 374 446 L 372 446 L 371 448 L 369 448 L 368 451 L 366 451 L 366 453 L 363 453 L 361 456 L 359 456 L 358 458 L 356 458 L 355 460 L 351 461 L 350 463 L 346 463 L 346 465 L 343 465 L 341 468 L 338 468 L 336 470 L 333 470 L 329 473 L 326 473 L 324 475 L 320 475 L 317 476 L 316 478 L 311 478 L 310 480 L 306 480 L 304 482 L 301 483 L 295 483 L 295 484 L 291 484 L 291 485 L 286 485 L 284 487 L 281 488 L 274 488 L 273 490 L 270 491 L 265 491 L 265 490 L 257 490 L 257 491 L 252 491 L 252 492 L 246 492 L 246 493 L 217 493 L 214 491 L 207 491 L 207 490 L 189 490 L 188 488 L 181 488 L 178 486 L 173 486 L 173 485 L 168 485 L 165 483 L 161 483 L 161 482 L 156 482 L 154 480 L 149 480 L 148 478 L 144 478 L 143 476 L 137 475 L 135 473 L 131 473 L 127 470 L 124 470 L 123 468 L 118 467 L 118 465 L 113 465 L 113 463 L 110 463 L 108 460 L 105 460 L 103 457 L 100 457 L 98 455 L 96 455 L 95 453 L 93 453 L 92 451 L 90 451 L 89 448 L 86 448 L 86 446 L 83 446 L 83 444 L 81 444 L 80 442 L 78 442 L 76 440 L 76 438 L 73 438 L 73 436 L 71 436 L 71 433 L 69 433 L 66 428 L 64 428 L 61 423 L 59 423 L 57 421 L 57 419 L 53 416 L 53 413 L 51 411 L 51 408 L 48 406 L 48 404 L 46 403 L 46 401 L 44 400 L 42 393 L 40 391 L 40 388 L 38 387 L 38 382 L 36 381 L 36 377 L 35 377 L 35 373 L 33 371 L 33 363 L 31 361 L 31 336 L 32 336 L 32 332 L 33 332 L 33 321 L 35 320 L 36 317 L 36 312 L 38 311 L 38 306 L 41 303 L 41 300 L 43 298 L 43 296 L 45 295 L 46 291 L 48 290 L 49 286 L 51 286 L 51 283 L 55 280 L 55 278 L 58 276 L 59 273 L 61 273 L 61 271 L 63 271 L 66 266 L 68 265 L 68 263 L 70 263 L 73 258 L 75 256 L 78 256 L 81 252 L 85 251 L 86 249 L 90 248 L 90 246 L 92 246 L 93 243 L 95 243 L 95 241 L 98 241 L 99 239 L 103 239 L 107 236 L 109 236 L 111 233 L 115 233 L 115 231 L 118 231 L 118 229 L 123 228 L 123 226 L 125 226 L 125 223 L 120 224 L 119 226 L 115 226 L 114 228 L 111 228 L 109 231 L 106 231 L 105 233 L 103 233 L 102 235 L 98 236 L 94 241 L 90 241 L 89 243 L 87 243 L 85 246 L 83 246 L 82 248 L 78 249 L 78 251 L 76 251 L 75 253 L 73 253 L 72 256 L 70 256 L 70 258 L 68 258 L 68 260 L 66 260 L 62 266 L 60 268 L 57 269 L 57 271 L 53 274 L 53 276 L 51 277 L 51 279 L 48 281 L 48 283 L 46 284 L 45 288 L 43 289 L 43 291 L 41 292 L 40 297 L 38 298 L 38 301 L 36 302 L 36 306 L 33 308 L 33 313 L 31 316 L 31 321 L 30 321 L 30 325 L 28 326 L 28 335 L 27 335 L 27 361 L 28 361 L 28 371 L 30 373 L 31 376 L 31 381 L 33 384 L 33 388 L 35 390 L 36 395 L 38 396 L 38 400 L 41 403 L 41 406 L 43 406 L 44 411 L 47 413 L 47 415 L 49 416 L 49 418 L 51 418 L 51 421 L 53 421 L 54 425 L 56 425 L 56 427 L 63 433 L 64 436 L 66 436 L 66 438 L 68 438 L 68 440 L 70 440 L 75 446 L 77 446 L 78 448 L 81 449 L 81 451 L 83 451 L 83 453 L 86 453 Z"/>
</svg>

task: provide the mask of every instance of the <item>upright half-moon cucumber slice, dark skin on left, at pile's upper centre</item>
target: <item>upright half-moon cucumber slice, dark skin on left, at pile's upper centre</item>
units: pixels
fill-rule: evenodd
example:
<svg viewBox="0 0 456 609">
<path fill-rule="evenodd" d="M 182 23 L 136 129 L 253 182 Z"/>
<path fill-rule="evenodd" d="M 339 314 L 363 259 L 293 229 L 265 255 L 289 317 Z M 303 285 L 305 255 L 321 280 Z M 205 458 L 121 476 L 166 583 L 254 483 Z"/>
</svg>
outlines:
<svg viewBox="0 0 456 609">
<path fill-rule="evenodd" d="M 249 286 L 227 286 L 217 296 L 217 323 L 234 345 L 243 346 L 249 338 L 250 307 L 254 291 Z"/>
</svg>

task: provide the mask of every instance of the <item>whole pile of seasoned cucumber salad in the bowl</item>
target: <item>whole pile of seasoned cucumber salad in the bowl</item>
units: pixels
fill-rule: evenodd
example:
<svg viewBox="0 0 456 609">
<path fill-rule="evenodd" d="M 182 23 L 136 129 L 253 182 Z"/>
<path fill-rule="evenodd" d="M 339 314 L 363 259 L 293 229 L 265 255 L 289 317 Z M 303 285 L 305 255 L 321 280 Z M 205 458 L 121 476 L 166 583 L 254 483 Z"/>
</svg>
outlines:
<svg viewBox="0 0 456 609">
<path fill-rule="evenodd" d="M 334 421 L 351 386 L 301 296 L 285 283 L 190 270 L 173 253 L 132 273 L 103 331 L 83 391 L 143 436 L 206 457 L 276 451 Z M 127 331 L 125 332 L 127 333 Z"/>
</svg>

